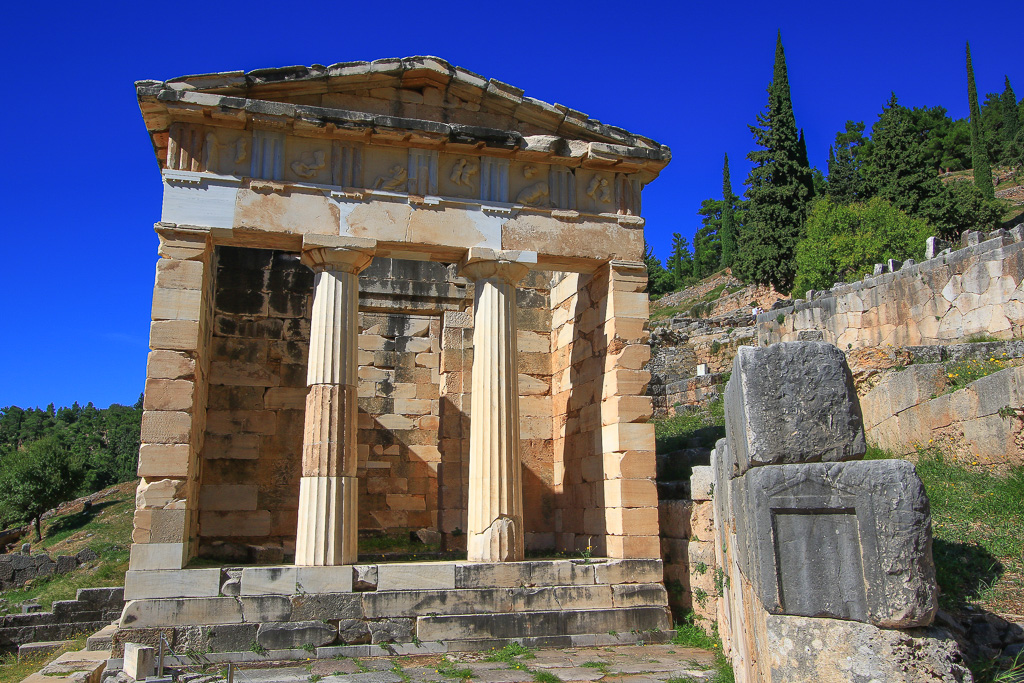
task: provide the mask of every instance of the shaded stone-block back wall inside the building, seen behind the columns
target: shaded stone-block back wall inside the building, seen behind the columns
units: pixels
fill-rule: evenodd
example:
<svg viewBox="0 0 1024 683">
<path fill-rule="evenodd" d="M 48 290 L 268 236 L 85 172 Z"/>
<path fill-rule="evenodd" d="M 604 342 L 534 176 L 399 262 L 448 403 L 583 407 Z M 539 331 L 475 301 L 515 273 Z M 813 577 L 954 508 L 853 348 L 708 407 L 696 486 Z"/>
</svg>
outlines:
<svg viewBox="0 0 1024 683">
<path fill-rule="evenodd" d="M 295 550 L 312 272 L 297 254 L 217 249 L 199 487 L 203 557 L 279 562 Z M 359 529 L 443 533 L 464 548 L 472 284 L 455 266 L 375 259 L 360 275 Z M 519 284 L 526 545 L 555 546 L 551 273 Z"/>
</svg>

